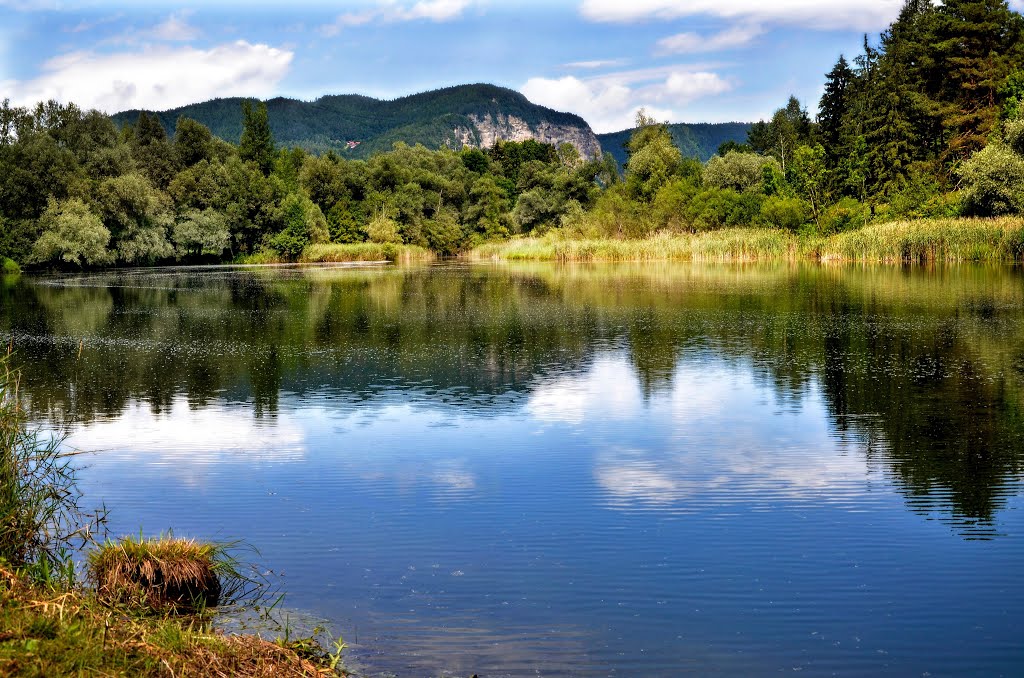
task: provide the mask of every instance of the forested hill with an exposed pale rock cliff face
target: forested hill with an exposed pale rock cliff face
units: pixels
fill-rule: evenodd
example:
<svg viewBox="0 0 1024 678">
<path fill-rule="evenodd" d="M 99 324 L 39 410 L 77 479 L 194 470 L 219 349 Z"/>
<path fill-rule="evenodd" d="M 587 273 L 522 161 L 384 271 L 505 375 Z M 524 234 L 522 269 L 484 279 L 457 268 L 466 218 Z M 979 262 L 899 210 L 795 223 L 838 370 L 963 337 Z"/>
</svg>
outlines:
<svg viewBox="0 0 1024 678">
<path fill-rule="evenodd" d="M 157 112 L 168 134 L 178 117 L 197 120 L 220 138 L 242 136 L 241 98 L 223 98 Z M 266 102 L 270 129 L 282 146 L 312 153 L 335 151 L 345 158 L 367 158 L 389 151 L 395 141 L 428 149 L 490 146 L 495 140 L 535 138 L 558 145 L 573 143 L 584 155 L 600 155 L 597 137 L 583 118 L 531 103 L 519 92 L 494 85 L 461 85 L 389 101 L 344 94 L 314 101 L 273 98 Z M 134 123 L 138 111 L 114 116 L 118 126 Z M 349 141 L 358 142 L 350 147 Z"/>
</svg>

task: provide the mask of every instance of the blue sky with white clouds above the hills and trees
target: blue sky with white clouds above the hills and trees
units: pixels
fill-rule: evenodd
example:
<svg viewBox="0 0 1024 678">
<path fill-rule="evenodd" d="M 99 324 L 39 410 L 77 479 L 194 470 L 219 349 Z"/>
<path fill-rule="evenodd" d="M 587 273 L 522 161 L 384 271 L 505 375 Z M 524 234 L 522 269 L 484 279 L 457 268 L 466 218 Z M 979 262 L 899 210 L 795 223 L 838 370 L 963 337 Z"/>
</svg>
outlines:
<svg viewBox="0 0 1024 678">
<path fill-rule="evenodd" d="M 0 0 L 0 98 L 106 113 L 487 82 L 597 132 L 813 114 L 902 0 Z M 1024 7 L 1024 0 L 1011 3 Z"/>
</svg>

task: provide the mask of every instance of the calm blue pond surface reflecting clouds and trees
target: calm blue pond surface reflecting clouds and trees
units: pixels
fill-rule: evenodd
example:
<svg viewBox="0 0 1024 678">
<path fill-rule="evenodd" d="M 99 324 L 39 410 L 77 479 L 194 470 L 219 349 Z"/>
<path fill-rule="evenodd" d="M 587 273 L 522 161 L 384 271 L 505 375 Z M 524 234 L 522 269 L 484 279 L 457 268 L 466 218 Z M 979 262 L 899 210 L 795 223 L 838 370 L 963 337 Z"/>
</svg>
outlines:
<svg viewBox="0 0 1024 678">
<path fill-rule="evenodd" d="M 242 539 L 365 675 L 1024 670 L 1024 274 L 0 283 L 116 534 Z"/>
</svg>

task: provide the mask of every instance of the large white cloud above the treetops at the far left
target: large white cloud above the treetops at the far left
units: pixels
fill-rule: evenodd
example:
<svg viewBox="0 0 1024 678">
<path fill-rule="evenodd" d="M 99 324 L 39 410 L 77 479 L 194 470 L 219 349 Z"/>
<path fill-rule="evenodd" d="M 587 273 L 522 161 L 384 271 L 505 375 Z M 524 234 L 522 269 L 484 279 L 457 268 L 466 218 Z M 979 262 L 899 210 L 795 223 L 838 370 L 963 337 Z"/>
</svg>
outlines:
<svg viewBox="0 0 1024 678">
<path fill-rule="evenodd" d="M 245 41 L 210 49 L 73 52 L 44 63 L 38 78 L 0 82 L 0 90 L 23 105 L 53 98 L 108 113 L 162 110 L 214 96 L 271 96 L 292 56 L 288 50 Z"/>
</svg>

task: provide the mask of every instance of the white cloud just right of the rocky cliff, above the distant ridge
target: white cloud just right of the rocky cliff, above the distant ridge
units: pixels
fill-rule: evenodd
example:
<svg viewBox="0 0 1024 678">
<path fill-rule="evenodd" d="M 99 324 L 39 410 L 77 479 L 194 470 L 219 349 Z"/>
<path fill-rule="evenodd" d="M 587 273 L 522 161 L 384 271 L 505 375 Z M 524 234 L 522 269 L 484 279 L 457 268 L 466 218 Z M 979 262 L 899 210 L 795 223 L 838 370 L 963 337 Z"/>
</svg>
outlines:
<svg viewBox="0 0 1024 678">
<path fill-rule="evenodd" d="M 526 98 L 556 111 L 575 113 L 596 132 L 633 127 L 638 109 L 656 120 L 678 122 L 691 101 L 732 89 L 717 73 L 668 67 L 595 78 L 530 78 L 519 88 Z"/>
</svg>

